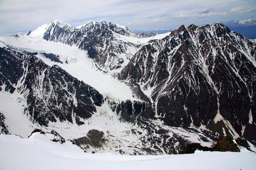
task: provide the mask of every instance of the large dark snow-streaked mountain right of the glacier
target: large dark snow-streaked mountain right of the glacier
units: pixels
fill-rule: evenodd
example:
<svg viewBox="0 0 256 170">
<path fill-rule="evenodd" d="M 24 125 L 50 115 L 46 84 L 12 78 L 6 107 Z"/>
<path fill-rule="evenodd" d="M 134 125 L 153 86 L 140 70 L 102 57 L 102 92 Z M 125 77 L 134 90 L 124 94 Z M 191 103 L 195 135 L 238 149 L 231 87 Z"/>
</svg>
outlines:
<svg viewBox="0 0 256 170">
<path fill-rule="evenodd" d="M 150 92 L 156 118 L 169 126 L 255 140 L 255 50 L 254 40 L 222 24 L 181 26 L 143 46 L 119 79 Z"/>
</svg>

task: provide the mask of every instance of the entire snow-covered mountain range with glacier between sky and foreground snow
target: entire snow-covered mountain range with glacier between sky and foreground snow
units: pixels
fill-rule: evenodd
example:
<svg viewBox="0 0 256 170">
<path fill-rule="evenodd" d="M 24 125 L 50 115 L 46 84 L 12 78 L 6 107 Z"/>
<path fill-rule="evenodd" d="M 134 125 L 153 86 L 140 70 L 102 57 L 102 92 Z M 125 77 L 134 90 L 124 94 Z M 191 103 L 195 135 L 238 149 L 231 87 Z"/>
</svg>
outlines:
<svg viewBox="0 0 256 170">
<path fill-rule="evenodd" d="M 2 133 L 54 130 L 86 152 L 133 155 L 229 134 L 255 144 L 256 42 L 222 24 L 156 35 L 55 20 L 0 49 Z"/>
</svg>

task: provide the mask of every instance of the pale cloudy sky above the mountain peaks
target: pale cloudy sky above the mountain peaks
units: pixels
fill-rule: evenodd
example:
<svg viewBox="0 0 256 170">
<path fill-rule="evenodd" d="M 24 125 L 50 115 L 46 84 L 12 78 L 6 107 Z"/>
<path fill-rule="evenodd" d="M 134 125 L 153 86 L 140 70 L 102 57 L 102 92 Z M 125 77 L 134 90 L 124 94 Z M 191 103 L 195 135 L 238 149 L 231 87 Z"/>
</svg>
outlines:
<svg viewBox="0 0 256 170">
<path fill-rule="evenodd" d="M 107 21 L 132 30 L 198 26 L 256 17 L 256 0 L 0 0 L 0 36 L 59 19 L 71 26 Z"/>
</svg>

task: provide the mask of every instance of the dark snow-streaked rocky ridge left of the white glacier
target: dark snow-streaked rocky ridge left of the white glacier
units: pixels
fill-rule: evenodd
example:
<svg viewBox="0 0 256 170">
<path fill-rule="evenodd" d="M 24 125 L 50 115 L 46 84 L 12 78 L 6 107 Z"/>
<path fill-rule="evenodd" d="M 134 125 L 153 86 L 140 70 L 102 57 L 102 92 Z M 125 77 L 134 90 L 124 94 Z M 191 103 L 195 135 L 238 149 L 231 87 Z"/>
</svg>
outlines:
<svg viewBox="0 0 256 170">
<path fill-rule="evenodd" d="M 83 124 L 78 117 L 87 119 L 97 112 L 95 106 L 103 103 L 102 95 L 72 77 L 59 66 L 52 67 L 33 55 L 25 55 L 10 48 L 0 48 L 0 86 L 13 93 L 24 95 L 27 100 L 25 114 L 40 125 L 49 121 L 68 121 Z M 92 100 L 91 100 L 92 99 Z"/>
</svg>

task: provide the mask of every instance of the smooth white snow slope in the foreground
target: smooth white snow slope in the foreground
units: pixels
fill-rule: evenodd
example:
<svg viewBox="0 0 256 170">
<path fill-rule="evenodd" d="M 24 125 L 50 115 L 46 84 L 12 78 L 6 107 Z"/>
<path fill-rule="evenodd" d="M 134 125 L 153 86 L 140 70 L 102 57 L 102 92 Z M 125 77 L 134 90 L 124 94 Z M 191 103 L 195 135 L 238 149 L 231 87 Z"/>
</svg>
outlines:
<svg viewBox="0 0 256 170">
<path fill-rule="evenodd" d="M 196 152 L 184 155 L 128 156 L 84 153 L 71 142 L 49 140 L 51 134 L 29 138 L 0 135 L 0 169 L 256 169 L 256 154 Z"/>
</svg>

